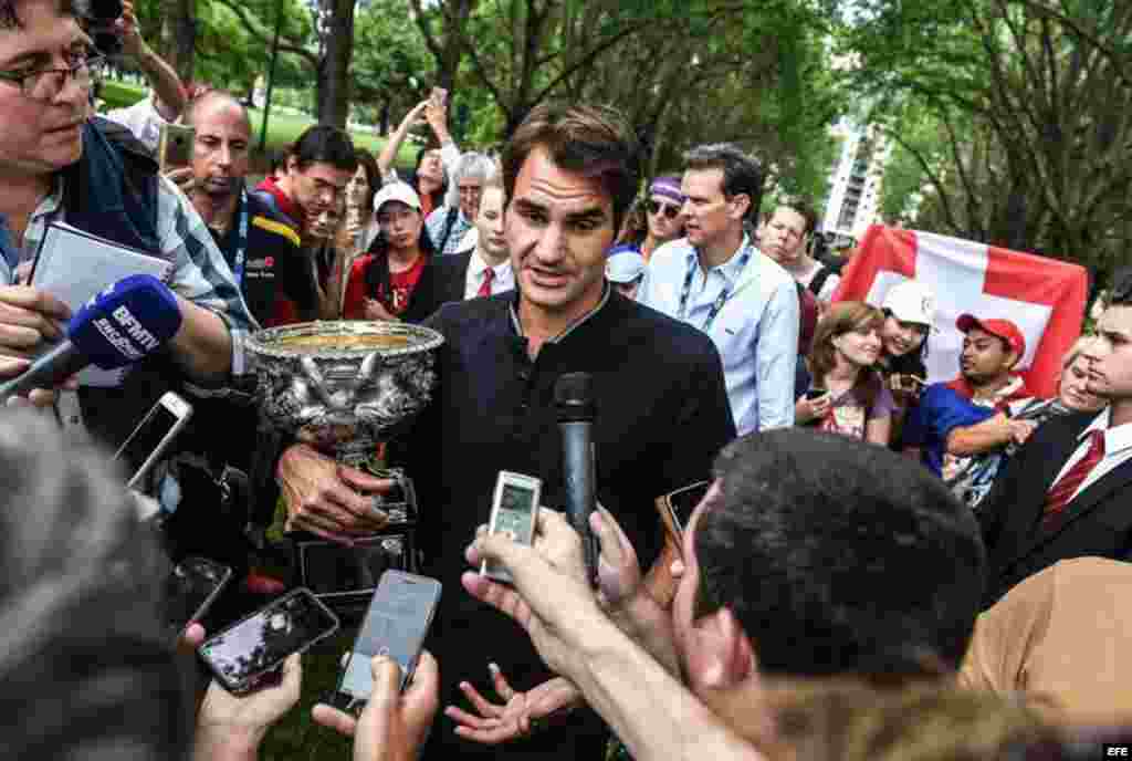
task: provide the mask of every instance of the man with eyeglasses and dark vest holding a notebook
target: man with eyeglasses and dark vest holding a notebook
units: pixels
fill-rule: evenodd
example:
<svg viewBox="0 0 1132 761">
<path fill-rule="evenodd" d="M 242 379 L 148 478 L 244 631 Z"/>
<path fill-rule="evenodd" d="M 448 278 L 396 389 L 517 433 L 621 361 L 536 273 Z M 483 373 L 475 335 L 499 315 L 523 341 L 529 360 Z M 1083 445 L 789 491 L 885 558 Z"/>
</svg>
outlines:
<svg viewBox="0 0 1132 761">
<path fill-rule="evenodd" d="M 16 283 L 50 222 L 144 250 L 172 264 L 182 325 L 165 356 L 144 362 L 113 388 L 82 387 L 87 430 L 125 438 L 173 383 L 205 385 L 243 371 L 241 335 L 252 325 L 231 270 L 200 216 L 125 128 L 91 117 L 100 59 L 69 3 L 16 0 L 0 6 L 0 375 L 63 334 L 69 309 Z M 171 361 L 170 361 L 171 360 Z M 35 403 L 51 390 L 31 394 Z"/>
</svg>

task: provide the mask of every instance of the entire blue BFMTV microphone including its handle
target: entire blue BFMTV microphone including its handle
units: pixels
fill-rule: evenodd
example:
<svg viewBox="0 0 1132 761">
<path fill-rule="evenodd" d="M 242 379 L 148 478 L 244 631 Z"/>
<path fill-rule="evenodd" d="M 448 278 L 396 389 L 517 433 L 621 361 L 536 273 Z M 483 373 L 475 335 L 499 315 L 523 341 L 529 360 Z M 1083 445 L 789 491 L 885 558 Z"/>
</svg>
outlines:
<svg viewBox="0 0 1132 761">
<path fill-rule="evenodd" d="M 154 353 L 181 327 L 177 297 L 153 275 L 130 275 L 91 299 L 67 324 L 67 337 L 11 380 L 0 403 L 33 388 L 53 388 L 94 365 L 113 370 Z"/>
</svg>

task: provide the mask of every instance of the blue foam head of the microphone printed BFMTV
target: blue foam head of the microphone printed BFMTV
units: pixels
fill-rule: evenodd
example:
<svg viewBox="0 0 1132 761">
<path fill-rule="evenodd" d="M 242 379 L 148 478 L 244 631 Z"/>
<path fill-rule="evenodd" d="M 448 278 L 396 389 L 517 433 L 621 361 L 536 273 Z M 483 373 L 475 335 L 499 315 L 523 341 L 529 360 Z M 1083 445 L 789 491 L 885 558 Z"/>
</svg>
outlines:
<svg viewBox="0 0 1132 761">
<path fill-rule="evenodd" d="M 113 369 L 157 351 L 180 326 L 173 292 L 152 275 L 131 275 L 79 309 L 67 335 L 93 365 Z"/>
</svg>

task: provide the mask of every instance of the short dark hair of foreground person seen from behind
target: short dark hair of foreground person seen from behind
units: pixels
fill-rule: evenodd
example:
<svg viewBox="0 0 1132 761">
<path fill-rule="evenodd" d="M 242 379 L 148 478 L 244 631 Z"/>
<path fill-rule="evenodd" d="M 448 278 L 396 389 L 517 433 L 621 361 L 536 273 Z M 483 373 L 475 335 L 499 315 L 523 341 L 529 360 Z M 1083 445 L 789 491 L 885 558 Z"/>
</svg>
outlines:
<svg viewBox="0 0 1132 761">
<path fill-rule="evenodd" d="M 781 676 L 938 676 L 967 651 L 983 595 L 978 523 L 903 455 L 781 428 L 715 460 L 722 498 L 695 523 L 696 616 L 721 606 Z"/>
</svg>

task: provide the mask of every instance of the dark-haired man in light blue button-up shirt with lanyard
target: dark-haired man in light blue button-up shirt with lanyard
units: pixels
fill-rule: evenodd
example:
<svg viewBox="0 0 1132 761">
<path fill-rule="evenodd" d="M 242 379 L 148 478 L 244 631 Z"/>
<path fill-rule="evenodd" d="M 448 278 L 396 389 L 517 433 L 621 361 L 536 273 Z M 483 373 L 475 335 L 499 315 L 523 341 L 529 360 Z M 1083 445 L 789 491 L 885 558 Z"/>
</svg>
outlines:
<svg viewBox="0 0 1132 761">
<path fill-rule="evenodd" d="M 740 436 L 791 426 L 798 293 L 743 228 L 758 208 L 762 172 L 730 144 L 696 147 L 685 161 L 687 237 L 652 255 L 637 300 L 711 336 Z"/>
</svg>

